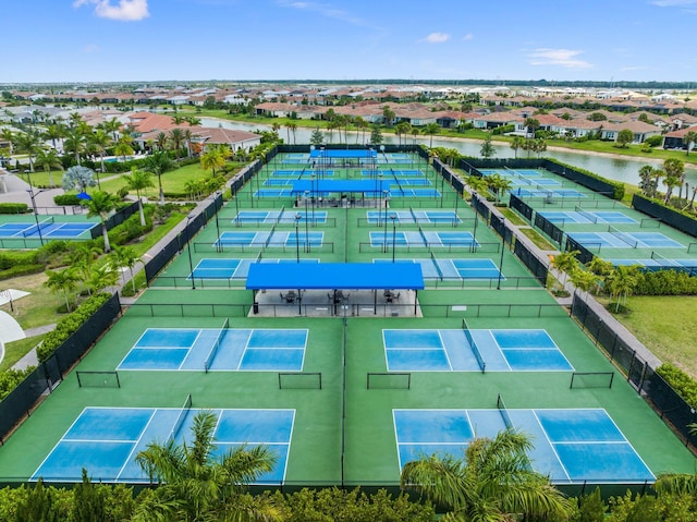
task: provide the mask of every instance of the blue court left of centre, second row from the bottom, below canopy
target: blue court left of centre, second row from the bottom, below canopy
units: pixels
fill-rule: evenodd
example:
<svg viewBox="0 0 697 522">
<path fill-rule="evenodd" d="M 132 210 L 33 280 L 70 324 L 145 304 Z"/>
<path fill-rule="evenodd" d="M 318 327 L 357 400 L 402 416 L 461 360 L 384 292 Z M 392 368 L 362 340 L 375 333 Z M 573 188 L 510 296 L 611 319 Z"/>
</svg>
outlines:
<svg viewBox="0 0 697 522">
<path fill-rule="evenodd" d="M 148 328 L 117 369 L 299 372 L 306 329 Z"/>
</svg>

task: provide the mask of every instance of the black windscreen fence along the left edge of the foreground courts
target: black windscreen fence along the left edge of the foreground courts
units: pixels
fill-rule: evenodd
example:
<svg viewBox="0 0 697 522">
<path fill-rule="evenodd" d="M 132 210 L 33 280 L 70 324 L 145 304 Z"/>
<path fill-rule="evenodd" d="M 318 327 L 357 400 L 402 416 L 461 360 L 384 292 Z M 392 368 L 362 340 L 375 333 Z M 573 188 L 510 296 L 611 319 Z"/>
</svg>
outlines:
<svg viewBox="0 0 697 522">
<path fill-rule="evenodd" d="M 121 308 L 113 294 L 95 314 L 73 332 L 53 353 L 38 364 L 2 401 L 0 401 L 0 445 L 15 426 L 32 414 L 37 401 L 63 379 L 65 374 L 91 348 L 117 318 Z"/>
</svg>

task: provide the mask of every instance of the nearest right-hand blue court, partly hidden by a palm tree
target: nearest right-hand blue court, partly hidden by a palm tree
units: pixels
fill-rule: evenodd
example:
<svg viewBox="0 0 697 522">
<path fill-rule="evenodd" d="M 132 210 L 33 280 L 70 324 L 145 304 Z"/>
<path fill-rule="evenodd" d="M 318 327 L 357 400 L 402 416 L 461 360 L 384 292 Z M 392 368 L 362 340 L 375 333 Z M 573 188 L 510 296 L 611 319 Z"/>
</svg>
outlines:
<svg viewBox="0 0 697 522">
<path fill-rule="evenodd" d="M 653 482 L 655 476 L 603 409 L 393 410 L 400 470 L 424 456 L 462 456 L 477 437 L 508 427 L 533 437 L 533 469 L 554 484 Z"/>
</svg>

